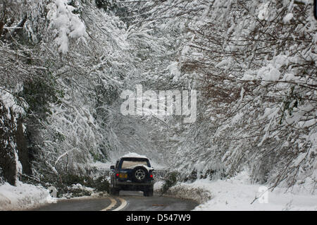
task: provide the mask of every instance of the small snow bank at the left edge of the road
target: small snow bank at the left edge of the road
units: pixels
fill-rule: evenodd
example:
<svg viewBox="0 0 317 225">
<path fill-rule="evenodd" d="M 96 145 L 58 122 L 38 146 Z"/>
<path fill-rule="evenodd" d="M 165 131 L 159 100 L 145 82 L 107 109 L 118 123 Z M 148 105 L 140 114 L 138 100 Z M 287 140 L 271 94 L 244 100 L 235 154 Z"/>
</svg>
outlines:
<svg viewBox="0 0 317 225">
<path fill-rule="evenodd" d="M 53 201 L 42 186 L 18 182 L 17 186 L 4 183 L 0 186 L 0 210 L 23 210 Z"/>
</svg>

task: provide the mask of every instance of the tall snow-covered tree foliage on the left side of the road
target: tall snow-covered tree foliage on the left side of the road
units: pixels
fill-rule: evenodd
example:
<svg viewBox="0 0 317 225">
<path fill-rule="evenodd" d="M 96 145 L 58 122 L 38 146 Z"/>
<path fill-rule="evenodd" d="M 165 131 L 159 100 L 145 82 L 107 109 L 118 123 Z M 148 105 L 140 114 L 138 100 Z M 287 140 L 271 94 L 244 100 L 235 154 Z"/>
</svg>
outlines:
<svg viewBox="0 0 317 225">
<path fill-rule="evenodd" d="M 114 148 L 109 142 L 116 145 L 106 137 L 113 114 L 109 106 L 125 76 L 134 73 L 134 65 L 127 63 L 125 25 L 93 1 L 16 4 L 0 5 L 13 21 L 0 14 L 0 87 L 12 90 L 20 105 L 26 102 L 23 126 L 33 164 L 29 178 L 80 175 L 91 162 L 106 159 Z M 25 16 L 23 10 L 29 8 L 32 13 Z M 11 26 L 21 32 L 9 38 Z"/>
</svg>

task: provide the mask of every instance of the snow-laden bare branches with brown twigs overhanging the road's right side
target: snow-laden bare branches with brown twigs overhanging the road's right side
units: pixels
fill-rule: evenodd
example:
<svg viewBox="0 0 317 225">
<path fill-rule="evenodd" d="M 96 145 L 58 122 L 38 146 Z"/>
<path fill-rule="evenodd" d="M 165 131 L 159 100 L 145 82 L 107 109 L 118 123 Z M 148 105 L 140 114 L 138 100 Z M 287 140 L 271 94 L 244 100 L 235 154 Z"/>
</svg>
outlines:
<svg viewBox="0 0 317 225">
<path fill-rule="evenodd" d="M 201 91 L 196 124 L 184 126 L 178 118 L 156 123 L 164 132 L 155 135 L 171 165 L 185 174 L 225 169 L 225 176 L 247 167 L 254 182 L 272 187 L 316 183 L 316 20 L 311 3 L 170 0 L 151 1 L 142 10 L 138 21 L 152 42 L 184 31 L 177 37 L 182 48 L 173 49 L 176 59 L 170 60 L 178 61 L 179 81 L 173 83 L 175 73 L 163 61 L 159 66 L 166 71 L 156 66 L 148 74 L 159 84 Z"/>
</svg>

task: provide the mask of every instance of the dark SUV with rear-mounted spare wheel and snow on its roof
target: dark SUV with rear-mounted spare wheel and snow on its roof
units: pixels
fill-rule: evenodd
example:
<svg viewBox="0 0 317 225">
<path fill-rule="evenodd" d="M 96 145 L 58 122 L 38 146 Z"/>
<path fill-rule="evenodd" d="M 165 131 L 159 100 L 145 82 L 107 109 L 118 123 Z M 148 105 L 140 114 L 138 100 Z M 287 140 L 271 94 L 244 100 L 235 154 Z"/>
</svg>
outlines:
<svg viewBox="0 0 317 225">
<path fill-rule="evenodd" d="M 122 157 L 110 169 L 111 195 L 119 195 L 120 190 L 141 190 L 144 196 L 153 196 L 154 169 L 146 157 Z"/>
</svg>

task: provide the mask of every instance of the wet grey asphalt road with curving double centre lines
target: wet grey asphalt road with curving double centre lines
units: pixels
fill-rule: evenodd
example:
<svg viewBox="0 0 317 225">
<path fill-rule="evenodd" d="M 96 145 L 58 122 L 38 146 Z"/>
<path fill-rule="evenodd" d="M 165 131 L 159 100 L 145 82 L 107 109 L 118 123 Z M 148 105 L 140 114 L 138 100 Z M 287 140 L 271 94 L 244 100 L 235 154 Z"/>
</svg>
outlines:
<svg viewBox="0 0 317 225">
<path fill-rule="evenodd" d="M 121 200 L 120 200 L 121 199 Z M 198 204 L 192 200 L 182 200 L 175 197 L 143 197 L 142 192 L 120 191 L 120 196 L 109 196 L 94 199 L 60 200 L 51 203 L 35 211 L 100 211 L 111 205 L 116 200 L 116 204 L 108 210 L 113 210 L 125 205 L 122 211 L 189 211 Z M 122 204 L 125 202 L 125 204 Z"/>
</svg>

